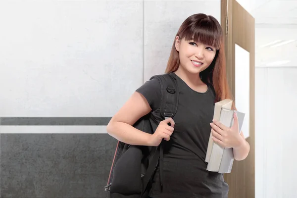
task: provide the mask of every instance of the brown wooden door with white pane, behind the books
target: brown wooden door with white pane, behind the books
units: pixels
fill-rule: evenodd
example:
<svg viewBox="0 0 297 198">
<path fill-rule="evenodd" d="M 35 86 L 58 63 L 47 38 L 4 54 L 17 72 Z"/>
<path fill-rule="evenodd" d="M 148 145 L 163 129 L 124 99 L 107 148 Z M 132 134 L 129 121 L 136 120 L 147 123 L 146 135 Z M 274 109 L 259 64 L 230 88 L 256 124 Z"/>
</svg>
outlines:
<svg viewBox="0 0 297 198">
<path fill-rule="evenodd" d="M 250 145 L 245 160 L 235 161 L 224 179 L 229 185 L 228 198 L 255 197 L 255 116 L 254 116 L 254 18 L 236 1 L 221 1 L 221 25 L 225 32 L 227 78 L 239 111 L 246 113 L 242 131 Z M 245 131 L 246 130 L 246 131 Z"/>
</svg>

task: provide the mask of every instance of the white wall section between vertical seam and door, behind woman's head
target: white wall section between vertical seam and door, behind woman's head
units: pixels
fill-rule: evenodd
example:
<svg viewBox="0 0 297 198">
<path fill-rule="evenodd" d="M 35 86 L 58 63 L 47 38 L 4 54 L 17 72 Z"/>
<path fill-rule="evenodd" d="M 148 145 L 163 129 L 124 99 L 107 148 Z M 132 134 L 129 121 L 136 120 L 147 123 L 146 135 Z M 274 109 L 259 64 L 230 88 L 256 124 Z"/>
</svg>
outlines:
<svg viewBox="0 0 297 198">
<path fill-rule="evenodd" d="M 192 14 L 205 13 L 221 20 L 220 0 L 145 1 L 145 77 L 164 73 L 175 35 Z"/>
</svg>

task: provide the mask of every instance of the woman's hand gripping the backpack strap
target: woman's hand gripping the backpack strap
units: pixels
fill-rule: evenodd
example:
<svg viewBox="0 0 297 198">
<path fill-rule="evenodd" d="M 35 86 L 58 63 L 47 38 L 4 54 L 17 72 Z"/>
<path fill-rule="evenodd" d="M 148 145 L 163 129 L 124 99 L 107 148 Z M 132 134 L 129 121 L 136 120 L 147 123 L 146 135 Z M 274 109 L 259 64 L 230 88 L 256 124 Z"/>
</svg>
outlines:
<svg viewBox="0 0 297 198">
<path fill-rule="evenodd" d="M 171 124 L 171 126 L 168 125 Z M 162 142 L 162 139 L 169 141 L 170 136 L 174 130 L 174 121 L 172 118 L 167 118 L 161 121 L 156 129 L 156 131 L 150 136 L 149 145 L 157 147 Z"/>
</svg>

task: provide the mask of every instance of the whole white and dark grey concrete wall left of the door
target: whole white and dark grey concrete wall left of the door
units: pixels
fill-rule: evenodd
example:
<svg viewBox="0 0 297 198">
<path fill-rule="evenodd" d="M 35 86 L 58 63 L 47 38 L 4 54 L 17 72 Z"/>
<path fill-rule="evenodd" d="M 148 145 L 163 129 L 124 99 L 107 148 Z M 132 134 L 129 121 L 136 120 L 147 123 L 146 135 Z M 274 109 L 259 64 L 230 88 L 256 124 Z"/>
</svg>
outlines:
<svg viewBox="0 0 297 198">
<path fill-rule="evenodd" d="M 0 1 L 0 196 L 104 198 L 106 123 L 220 1 Z"/>
</svg>

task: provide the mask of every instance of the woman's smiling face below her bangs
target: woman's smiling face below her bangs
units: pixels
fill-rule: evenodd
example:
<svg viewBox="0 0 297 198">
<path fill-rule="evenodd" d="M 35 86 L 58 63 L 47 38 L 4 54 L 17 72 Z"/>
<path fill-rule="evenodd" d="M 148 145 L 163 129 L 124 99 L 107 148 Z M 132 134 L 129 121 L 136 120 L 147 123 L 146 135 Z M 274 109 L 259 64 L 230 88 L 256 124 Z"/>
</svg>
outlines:
<svg viewBox="0 0 297 198">
<path fill-rule="evenodd" d="M 216 49 L 194 40 L 175 38 L 175 48 L 179 51 L 180 67 L 191 74 L 199 74 L 213 61 Z"/>
</svg>

